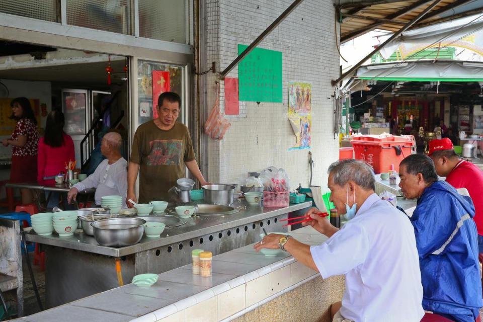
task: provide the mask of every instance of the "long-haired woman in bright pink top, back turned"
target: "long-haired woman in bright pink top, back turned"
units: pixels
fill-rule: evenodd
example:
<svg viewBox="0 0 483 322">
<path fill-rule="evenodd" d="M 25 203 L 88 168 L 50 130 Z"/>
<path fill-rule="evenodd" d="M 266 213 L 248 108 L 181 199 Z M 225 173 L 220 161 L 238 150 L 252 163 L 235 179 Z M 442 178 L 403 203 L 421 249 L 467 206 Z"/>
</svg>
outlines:
<svg viewBox="0 0 483 322">
<path fill-rule="evenodd" d="M 75 160 L 74 142 L 64 133 L 64 114 L 56 109 L 47 116 L 45 134 L 39 140 L 39 158 L 37 162 L 37 181 L 43 184 L 55 184 L 54 179 L 44 179 L 65 172 L 65 163 Z M 47 208 L 57 206 L 59 194 L 52 193 Z"/>
</svg>

